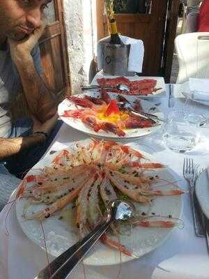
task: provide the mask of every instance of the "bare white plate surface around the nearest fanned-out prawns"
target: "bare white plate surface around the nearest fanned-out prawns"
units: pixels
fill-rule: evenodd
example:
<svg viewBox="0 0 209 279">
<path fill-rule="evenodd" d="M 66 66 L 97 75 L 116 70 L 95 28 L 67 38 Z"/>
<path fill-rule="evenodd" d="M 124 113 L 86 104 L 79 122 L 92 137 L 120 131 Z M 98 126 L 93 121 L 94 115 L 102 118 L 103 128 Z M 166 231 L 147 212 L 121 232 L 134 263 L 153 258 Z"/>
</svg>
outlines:
<svg viewBox="0 0 209 279">
<path fill-rule="evenodd" d="M 84 142 L 86 144 L 86 142 Z M 137 144 L 132 144 L 132 147 L 136 147 Z M 154 158 L 149 154 L 144 153 L 148 158 Z M 52 162 L 56 153 L 52 156 L 47 156 L 43 160 L 31 169 L 29 174 L 37 174 L 38 168 L 45 167 Z M 152 172 L 153 175 L 158 175 L 162 179 L 175 181 L 169 169 L 161 170 L 160 172 Z M 160 182 L 162 185 L 162 182 Z M 168 186 L 163 186 L 163 189 L 167 189 Z M 34 243 L 40 246 L 42 249 L 45 249 L 45 241 L 47 243 L 47 252 L 53 256 L 58 256 L 70 246 L 75 244 L 78 241 L 78 232 L 76 226 L 73 224 L 73 210 L 72 204 L 63 209 L 63 211 L 57 212 L 54 216 L 44 220 L 42 222 L 42 227 L 44 230 L 45 241 L 40 226 L 40 221 L 38 220 L 25 220 L 22 217 L 22 212 L 24 206 L 27 204 L 26 199 L 20 199 L 16 204 L 16 213 L 17 220 L 22 227 L 23 232 L 26 236 L 31 239 Z M 136 204 L 137 211 L 141 212 L 155 212 L 166 216 L 173 216 L 180 218 L 181 212 L 183 209 L 183 202 L 181 196 L 171 196 L 171 197 L 158 197 L 154 199 L 153 204 L 150 206 L 142 206 Z M 45 206 L 33 205 L 31 206 L 30 212 L 36 212 L 38 208 L 44 208 Z M 60 216 L 65 216 L 64 220 L 59 220 Z M 146 228 L 146 227 L 136 227 L 132 229 L 125 236 L 120 236 L 120 241 L 125 245 L 129 250 L 134 252 L 134 255 L 141 257 L 147 254 L 150 251 L 153 251 L 158 246 L 162 245 L 164 241 L 168 238 L 169 234 L 173 228 Z M 132 257 L 127 257 L 121 255 L 122 262 L 129 262 L 132 260 Z M 88 253 L 84 259 L 84 264 L 102 266 L 102 265 L 112 265 L 118 264 L 121 262 L 120 253 L 116 250 L 104 246 L 102 243 L 97 243 L 93 250 Z"/>
</svg>

